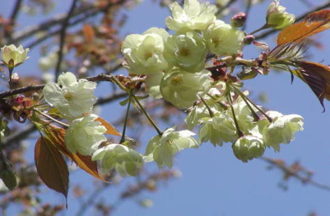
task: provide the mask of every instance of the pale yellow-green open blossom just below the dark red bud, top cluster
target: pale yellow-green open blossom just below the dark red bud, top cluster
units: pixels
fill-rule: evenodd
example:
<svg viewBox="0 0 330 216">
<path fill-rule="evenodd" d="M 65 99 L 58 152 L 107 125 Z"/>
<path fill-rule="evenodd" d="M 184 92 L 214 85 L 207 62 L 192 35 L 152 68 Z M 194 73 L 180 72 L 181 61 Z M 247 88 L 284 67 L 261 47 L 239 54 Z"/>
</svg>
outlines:
<svg viewBox="0 0 330 216">
<path fill-rule="evenodd" d="M 216 20 L 205 31 L 207 48 L 218 56 L 237 54 L 242 49 L 244 32 Z"/>
</svg>

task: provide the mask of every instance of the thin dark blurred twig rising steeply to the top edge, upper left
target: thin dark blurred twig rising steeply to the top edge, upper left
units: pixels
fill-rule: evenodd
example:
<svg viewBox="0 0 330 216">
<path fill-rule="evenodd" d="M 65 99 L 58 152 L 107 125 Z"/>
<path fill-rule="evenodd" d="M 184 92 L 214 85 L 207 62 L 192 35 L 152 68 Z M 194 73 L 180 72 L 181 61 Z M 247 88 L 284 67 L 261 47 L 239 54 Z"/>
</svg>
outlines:
<svg viewBox="0 0 330 216">
<path fill-rule="evenodd" d="M 58 49 L 58 60 L 56 63 L 56 70 L 55 70 L 56 81 L 57 81 L 57 77 L 60 73 L 61 63 L 63 60 L 63 47 L 65 44 L 66 29 L 68 28 L 69 20 L 73 14 L 74 8 L 76 7 L 77 1 L 79 1 L 79 0 L 72 0 L 72 5 L 70 7 L 68 15 L 65 17 L 65 20 L 63 20 L 62 29 L 61 29 L 61 33 L 60 33 L 60 48 Z"/>
</svg>

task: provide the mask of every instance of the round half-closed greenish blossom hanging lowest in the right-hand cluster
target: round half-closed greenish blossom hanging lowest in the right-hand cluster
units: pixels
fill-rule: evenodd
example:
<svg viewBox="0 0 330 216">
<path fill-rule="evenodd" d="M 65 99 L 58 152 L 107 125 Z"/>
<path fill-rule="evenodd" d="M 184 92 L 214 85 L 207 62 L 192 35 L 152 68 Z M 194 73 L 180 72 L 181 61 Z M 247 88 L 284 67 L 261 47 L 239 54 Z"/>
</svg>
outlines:
<svg viewBox="0 0 330 216">
<path fill-rule="evenodd" d="M 253 136 L 243 136 L 237 139 L 232 146 L 234 155 L 242 162 L 248 162 L 253 158 L 260 157 L 266 146 L 262 139 Z"/>
</svg>

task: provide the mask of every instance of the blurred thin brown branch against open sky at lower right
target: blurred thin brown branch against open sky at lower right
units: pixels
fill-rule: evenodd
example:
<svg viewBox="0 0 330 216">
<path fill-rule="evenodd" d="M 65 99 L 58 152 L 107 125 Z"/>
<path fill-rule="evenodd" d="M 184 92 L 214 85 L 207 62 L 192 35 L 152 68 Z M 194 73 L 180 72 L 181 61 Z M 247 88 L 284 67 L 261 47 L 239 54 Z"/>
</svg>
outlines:
<svg viewBox="0 0 330 216">
<path fill-rule="evenodd" d="M 297 178 L 298 180 L 301 181 L 301 183 L 308 183 L 317 188 L 330 191 L 329 185 L 323 185 L 321 183 L 317 183 L 314 180 L 311 180 L 311 178 L 309 178 L 309 177 L 301 176 L 301 175 L 299 175 L 299 173 L 297 173 L 297 171 L 290 169 L 290 167 L 286 167 L 284 164 L 276 162 L 276 160 L 273 160 L 269 157 L 259 157 L 259 158 L 260 158 L 260 160 L 268 162 L 269 164 L 272 164 L 273 166 L 277 167 L 278 169 L 281 169 L 284 173 L 288 173 L 290 176 Z"/>
</svg>

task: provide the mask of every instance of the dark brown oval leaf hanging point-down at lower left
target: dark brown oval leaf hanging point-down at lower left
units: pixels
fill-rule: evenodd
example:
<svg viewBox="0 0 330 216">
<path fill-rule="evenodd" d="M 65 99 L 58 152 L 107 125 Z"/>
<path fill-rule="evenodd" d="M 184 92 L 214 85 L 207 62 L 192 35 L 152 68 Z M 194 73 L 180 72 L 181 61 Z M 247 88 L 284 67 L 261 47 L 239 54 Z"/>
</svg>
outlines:
<svg viewBox="0 0 330 216">
<path fill-rule="evenodd" d="M 47 187 L 68 196 L 69 171 L 62 154 L 45 137 L 40 137 L 34 148 L 38 175 Z"/>
</svg>

